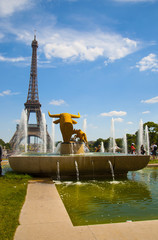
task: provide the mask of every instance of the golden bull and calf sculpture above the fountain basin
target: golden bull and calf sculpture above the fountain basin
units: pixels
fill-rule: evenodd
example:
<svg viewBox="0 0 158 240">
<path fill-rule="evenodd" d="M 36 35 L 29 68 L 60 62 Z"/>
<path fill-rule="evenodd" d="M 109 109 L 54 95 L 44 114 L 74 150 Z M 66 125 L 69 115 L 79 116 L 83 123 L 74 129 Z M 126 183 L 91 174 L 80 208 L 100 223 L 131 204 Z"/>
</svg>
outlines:
<svg viewBox="0 0 158 240">
<path fill-rule="evenodd" d="M 48 112 L 49 117 L 52 118 L 59 118 L 53 123 L 58 124 L 60 123 L 60 131 L 62 133 L 63 141 L 64 142 L 70 142 L 70 139 L 73 134 L 76 134 L 76 137 L 80 138 L 80 141 L 82 142 L 87 142 L 87 137 L 84 132 L 82 132 L 80 129 L 79 130 L 74 130 L 73 129 L 73 124 L 77 124 L 73 118 L 80 118 L 80 114 L 74 115 L 70 113 L 60 113 L 60 114 L 50 114 Z"/>
</svg>

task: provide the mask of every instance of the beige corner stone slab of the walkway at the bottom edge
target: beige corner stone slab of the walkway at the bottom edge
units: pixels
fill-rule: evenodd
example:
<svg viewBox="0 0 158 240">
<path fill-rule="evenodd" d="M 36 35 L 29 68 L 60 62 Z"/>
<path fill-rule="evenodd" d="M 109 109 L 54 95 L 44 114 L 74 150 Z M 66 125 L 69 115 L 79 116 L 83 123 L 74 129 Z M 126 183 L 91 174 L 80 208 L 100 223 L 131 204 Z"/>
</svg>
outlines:
<svg viewBox="0 0 158 240">
<path fill-rule="evenodd" d="M 96 240 L 86 227 L 73 227 L 67 223 L 28 224 L 18 227 L 16 240 Z"/>
</svg>

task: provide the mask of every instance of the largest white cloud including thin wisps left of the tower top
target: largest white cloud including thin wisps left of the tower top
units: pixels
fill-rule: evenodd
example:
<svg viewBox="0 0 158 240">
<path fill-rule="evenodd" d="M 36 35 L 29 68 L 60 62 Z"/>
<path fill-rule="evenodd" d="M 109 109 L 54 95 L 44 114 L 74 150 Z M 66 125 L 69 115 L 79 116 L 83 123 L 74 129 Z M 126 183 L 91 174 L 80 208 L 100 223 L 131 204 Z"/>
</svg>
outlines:
<svg viewBox="0 0 158 240">
<path fill-rule="evenodd" d="M 37 40 L 40 53 L 43 52 L 49 61 L 54 58 L 63 61 L 95 61 L 102 57 L 107 65 L 141 48 L 141 42 L 125 38 L 118 33 L 101 30 L 84 32 L 66 28 L 59 29 L 56 28 L 56 19 L 50 16 L 47 17 L 47 22 L 51 24 L 45 24 L 45 26 L 42 23 L 40 28 L 37 27 Z M 30 45 L 32 26 L 26 29 L 21 26 L 15 28 L 9 24 L 5 25 L 5 28 L 17 36 L 16 40 Z"/>
</svg>

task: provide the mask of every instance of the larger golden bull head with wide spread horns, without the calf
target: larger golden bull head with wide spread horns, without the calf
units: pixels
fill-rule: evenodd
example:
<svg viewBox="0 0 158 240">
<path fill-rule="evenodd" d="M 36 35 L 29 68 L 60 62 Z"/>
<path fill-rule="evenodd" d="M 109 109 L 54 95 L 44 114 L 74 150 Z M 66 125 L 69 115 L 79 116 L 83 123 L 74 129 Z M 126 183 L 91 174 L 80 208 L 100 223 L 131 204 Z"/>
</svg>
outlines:
<svg viewBox="0 0 158 240">
<path fill-rule="evenodd" d="M 60 123 L 60 130 L 61 130 L 64 142 L 70 142 L 71 136 L 73 134 L 73 124 L 77 123 L 72 118 L 80 118 L 80 114 L 79 113 L 78 115 L 74 115 L 70 113 L 50 114 L 50 112 L 48 112 L 48 114 L 52 118 L 59 118 L 53 121 L 53 123 L 55 124 Z"/>
</svg>

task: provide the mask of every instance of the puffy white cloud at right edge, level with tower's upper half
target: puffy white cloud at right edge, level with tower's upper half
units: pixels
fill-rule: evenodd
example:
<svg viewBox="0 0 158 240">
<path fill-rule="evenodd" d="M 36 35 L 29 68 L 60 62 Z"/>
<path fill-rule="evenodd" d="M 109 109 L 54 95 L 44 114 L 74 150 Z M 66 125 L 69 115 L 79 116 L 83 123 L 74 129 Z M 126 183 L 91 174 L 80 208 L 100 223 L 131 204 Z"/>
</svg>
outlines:
<svg viewBox="0 0 158 240">
<path fill-rule="evenodd" d="M 151 70 L 152 72 L 158 72 L 158 58 L 156 54 L 150 53 L 148 56 L 142 58 L 136 65 L 139 71 Z"/>
</svg>

